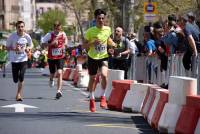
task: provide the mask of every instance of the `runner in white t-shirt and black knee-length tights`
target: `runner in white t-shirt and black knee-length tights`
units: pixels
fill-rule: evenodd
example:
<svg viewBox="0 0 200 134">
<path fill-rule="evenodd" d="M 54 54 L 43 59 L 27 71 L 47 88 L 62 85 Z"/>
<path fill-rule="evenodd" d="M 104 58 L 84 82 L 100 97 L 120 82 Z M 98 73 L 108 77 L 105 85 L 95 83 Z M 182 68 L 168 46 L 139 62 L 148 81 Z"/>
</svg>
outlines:
<svg viewBox="0 0 200 134">
<path fill-rule="evenodd" d="M 16 101 L 22 101 L 22 89 L 24 85 L 24 74 L 27 68 L 27 51 L 32 49 L 33 43 L 30 35 L 25 33 L 25 23 L 16 23 L 17 32 L 10 35 L 6 42 L 9 60 L 12 63 L 12 75 L 14 83 L 18 83 Z"/>
</svg>

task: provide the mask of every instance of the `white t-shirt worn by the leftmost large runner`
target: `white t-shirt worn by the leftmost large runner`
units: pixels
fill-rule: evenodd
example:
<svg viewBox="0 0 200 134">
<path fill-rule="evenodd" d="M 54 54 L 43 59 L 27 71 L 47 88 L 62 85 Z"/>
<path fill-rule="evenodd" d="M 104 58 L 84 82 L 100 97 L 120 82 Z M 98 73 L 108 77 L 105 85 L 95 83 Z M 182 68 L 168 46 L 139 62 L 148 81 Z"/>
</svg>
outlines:
<svg viewBox="0 0 200 134">
<path fill-rule="evenodd" d="M 15 49 L 19 45 L 21 47 L 21 51 L 9 51 L 9 60 L 11 62 L 24 62 L 28 60 L 27 53 L 25 52 L 26 47 L 33 47 L 32 39 L 29 34 L 25 33 L 23 36 L 19 36 L 17 32 L 14 32 L 7 39 L 6 47 Z"/>
</svg>

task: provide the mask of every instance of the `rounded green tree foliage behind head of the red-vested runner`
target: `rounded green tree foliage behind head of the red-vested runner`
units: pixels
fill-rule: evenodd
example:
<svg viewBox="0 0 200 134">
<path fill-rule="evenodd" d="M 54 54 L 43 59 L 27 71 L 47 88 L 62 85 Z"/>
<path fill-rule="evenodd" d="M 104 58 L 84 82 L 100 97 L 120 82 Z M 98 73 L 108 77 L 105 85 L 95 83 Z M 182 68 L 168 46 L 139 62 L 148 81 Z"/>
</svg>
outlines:
<svg viewBox="0 0 200 134">
<path fill-rule="evenodd" d="M 65 25 L 65 13 L 58 9 L 49 10 L 41 15 L 37 24 L 44 31 L 44 34 L 53 30 L 53 24 L 55 21 L 60 21 L 62 25 Z"/>
</svg>

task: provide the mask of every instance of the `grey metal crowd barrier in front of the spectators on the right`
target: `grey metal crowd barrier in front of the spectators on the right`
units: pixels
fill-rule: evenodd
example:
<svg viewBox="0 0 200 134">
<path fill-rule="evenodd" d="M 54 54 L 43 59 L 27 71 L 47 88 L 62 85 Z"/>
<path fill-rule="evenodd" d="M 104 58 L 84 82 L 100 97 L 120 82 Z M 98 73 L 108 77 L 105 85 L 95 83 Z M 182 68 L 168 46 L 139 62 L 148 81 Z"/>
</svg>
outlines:
<svg viewBox="0 0 200 134">
<path fill-rule="evenodd" d="M 193 65 L 192 69 L 186 71 L 183 63 L 183 53 L 173 54 L 168 57 L 168 68 L 166 72 L 160 71 L 160 59 L 155 57 L 147 56 L 132 56 L 132 63 L 129 70 L 129 79 L 142 81 L 145 83 L 152 83 L 162 85 L 162 83 L 168 83 L 169 76 L 186 76 L 197 78 L 198 94 L 200 94 L 200 54 L 197 59 L 192 58 Z"/>
</svg>

